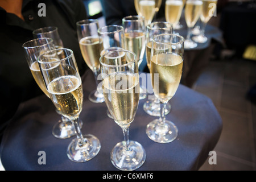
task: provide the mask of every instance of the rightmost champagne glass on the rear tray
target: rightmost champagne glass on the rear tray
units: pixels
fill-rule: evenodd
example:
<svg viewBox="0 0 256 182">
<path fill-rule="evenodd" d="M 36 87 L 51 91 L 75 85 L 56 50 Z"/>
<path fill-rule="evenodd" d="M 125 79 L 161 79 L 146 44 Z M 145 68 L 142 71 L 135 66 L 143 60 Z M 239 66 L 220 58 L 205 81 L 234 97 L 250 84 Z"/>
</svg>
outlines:
<svg viewBox="0 0 256 182">
<path fill-rule="evenodd" d="M 197 43 L 205 43 L 207 42 L 207 37 L 205 36 L 205 27 L 209 22 L 210 18 L 212 18 L 214 11 L 217 7 L 217 0 L 202 0 L 202 13 L 200 15 L 201 20 L 201 30 L 200 34 L 197 36 L 193 36 L 193 40 Z"/>
</svg>

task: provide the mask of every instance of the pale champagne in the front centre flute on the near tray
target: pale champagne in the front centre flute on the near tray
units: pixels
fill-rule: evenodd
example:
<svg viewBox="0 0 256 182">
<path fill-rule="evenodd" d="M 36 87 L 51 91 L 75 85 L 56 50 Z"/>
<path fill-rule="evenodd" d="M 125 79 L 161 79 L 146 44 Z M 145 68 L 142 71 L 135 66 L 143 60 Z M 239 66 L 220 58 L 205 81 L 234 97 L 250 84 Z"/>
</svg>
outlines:
<svg viewBox="0 0 256 182">
<path fill-rule="evenodd" d="M 122 125 L 133 122 L 139 104 L 139 78 L 131 73 L 115 72 L 102 84 L 106 105 L 114 121 Z"/>
</svg>

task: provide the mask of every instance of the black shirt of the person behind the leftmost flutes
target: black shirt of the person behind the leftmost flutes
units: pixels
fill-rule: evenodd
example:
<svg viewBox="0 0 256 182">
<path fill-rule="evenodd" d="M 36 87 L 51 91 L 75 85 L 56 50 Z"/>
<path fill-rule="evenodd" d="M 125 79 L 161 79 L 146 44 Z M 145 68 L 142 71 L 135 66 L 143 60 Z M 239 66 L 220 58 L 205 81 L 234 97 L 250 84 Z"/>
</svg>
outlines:
<svg viewBox="0 0 256 182">
<path fill-rule="evenodd" d="M 39 16 L 39 3 L 46 5 L 46 16 Z M 34 39 L 32 31 L 47 26 L 58 28 L 65 48 L 73 50 L 80 75 L 88 67 L 82 59 L 76 33 L 76 22 L 86 19 L 80 0 L 23 0 L 24 21 L 0 7 L 0 138 L 7 121 L 13 117 L 20 102 L 43 94 L 36 84 L 22 44 Z"/>
</svg>

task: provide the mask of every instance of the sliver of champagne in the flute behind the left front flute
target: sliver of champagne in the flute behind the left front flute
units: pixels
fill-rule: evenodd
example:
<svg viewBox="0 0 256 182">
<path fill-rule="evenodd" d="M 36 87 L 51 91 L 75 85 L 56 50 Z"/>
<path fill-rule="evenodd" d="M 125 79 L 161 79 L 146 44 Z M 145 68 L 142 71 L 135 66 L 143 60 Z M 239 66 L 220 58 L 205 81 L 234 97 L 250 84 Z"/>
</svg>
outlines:
<svg viewBox="0 0 256 182">
<path fill-rule="evenodd" d="M 46 96 L 49 97 L 49 93 L 46 89 L 46 84 L 44 84 L 43 76 L 37 61 L 31 64 L 30 71 L 36 81 L 36 84 L 38 84 L 39 88 L 44 92 L 44 94 L 46 94 Z"/>
</svg>

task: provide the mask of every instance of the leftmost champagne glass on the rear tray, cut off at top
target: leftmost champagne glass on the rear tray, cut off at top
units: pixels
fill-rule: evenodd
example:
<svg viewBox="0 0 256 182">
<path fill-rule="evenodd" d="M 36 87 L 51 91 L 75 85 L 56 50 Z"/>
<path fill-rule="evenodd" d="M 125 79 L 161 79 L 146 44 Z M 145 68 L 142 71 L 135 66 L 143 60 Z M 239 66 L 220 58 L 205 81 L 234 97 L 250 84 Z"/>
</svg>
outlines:
<svg viewBox="0 0 256 182">
<path fill-rule="evenodd" d="M 134 6 L 139 16 L 144 16 L 145 25 L 152 22 L 156 11 L 155 0 L 134 0 Z"/>
</svg>

